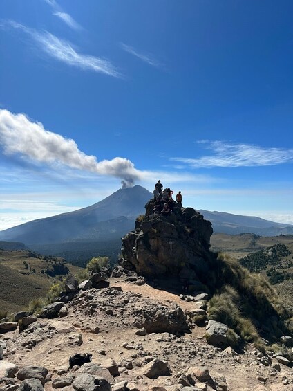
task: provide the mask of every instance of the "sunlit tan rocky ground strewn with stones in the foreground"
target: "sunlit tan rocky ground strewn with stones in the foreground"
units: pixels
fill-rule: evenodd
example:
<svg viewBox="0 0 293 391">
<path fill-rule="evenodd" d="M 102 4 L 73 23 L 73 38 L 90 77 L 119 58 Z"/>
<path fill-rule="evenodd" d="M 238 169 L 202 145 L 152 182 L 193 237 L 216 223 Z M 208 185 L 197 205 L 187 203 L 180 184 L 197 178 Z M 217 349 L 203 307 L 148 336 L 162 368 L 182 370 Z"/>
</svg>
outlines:
<svg viewBox="0 0 293 391">
<path fill-rule="evenodd" d="M 79 291 L 59 318 L 0 334 L 0 390 L 293 390 L 292 368 L 253 345 L 243 354 L 208 345 L 205 326 L 190 320 L 196 302 L 126 280 Z M 91 363 L 70 369 L 78 353 Z"/>
</svg>

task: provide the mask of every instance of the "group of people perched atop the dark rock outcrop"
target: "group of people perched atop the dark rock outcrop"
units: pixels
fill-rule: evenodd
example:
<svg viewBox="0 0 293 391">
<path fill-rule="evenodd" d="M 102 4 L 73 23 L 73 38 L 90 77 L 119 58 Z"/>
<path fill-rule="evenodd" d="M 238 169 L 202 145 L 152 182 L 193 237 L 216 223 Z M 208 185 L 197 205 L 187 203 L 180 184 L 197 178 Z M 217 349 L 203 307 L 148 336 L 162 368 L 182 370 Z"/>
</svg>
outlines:
<svg viewBox="0 0 293 391">
<path fill-rule="evenodd" d="M 165 188 L 163 190 L 160 179 L 158 180 L 158 183 L 155 183 L 155 190 L 153 190 L 153 198 L 155 199 L 155 207 L 153 208 L 154 215 L 168 216 L 173 211 L 175 205 L 182 208 L 181 192 L 176 194 L 176 201 L 172 198 L 173 194 L 174 192 L 170 188 Z"/>
</svg>

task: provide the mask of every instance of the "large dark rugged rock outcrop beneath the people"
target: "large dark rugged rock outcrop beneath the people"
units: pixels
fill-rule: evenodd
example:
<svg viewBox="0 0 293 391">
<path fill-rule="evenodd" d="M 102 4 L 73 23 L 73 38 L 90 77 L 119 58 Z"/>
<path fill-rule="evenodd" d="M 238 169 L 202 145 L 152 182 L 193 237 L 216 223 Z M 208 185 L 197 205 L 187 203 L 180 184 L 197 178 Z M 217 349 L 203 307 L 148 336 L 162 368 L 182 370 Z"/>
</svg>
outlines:
<svg viewBox="0 0 293 391">
<path fill-rule="evenodd" d="M 122 238 L 121 266 L 148 278 L 180 275 L 182 281 L 196 284 L 209 268 L 211 222 L 177 203 L 168 216 L 154 214 L 154 208 L 151 199 L 142 221 Z"/>
</svg>

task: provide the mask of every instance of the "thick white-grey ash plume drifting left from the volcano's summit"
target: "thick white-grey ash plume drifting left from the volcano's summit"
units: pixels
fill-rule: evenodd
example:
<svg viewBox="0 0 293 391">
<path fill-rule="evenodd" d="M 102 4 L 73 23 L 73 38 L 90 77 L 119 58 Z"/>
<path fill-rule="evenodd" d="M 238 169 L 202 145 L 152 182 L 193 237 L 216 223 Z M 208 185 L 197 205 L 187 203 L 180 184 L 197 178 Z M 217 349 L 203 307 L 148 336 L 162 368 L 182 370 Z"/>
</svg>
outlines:
<svg viewBox="0 0 293 391">
<path fill-rule="evenodd" d="M 24 114 L 13 114 L 0 109 L 0 143 L 3 154 L 21 156 L 48 165 L 66 165 L 100 175 L 122 179 L 122 187 L 132 186 L 142 179 L 129 159 L 115 157 L 97 161 L 96 156 L 86 155 L 78 149 L 75 140 L 64 138 L 44 128 L 41 122 L 32 122 Z"/>
</svg>

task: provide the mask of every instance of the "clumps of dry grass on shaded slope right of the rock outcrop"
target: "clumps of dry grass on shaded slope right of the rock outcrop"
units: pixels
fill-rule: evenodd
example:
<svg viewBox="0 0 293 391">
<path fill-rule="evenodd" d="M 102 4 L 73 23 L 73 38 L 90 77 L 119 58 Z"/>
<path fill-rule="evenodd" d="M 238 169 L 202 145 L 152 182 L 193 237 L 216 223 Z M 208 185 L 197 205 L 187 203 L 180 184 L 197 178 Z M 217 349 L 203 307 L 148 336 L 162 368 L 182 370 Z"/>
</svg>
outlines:
<svg viewBox="0 0 293 391">
<path fill-rule="evenodd" d="M 260 325 L 265 328 L 268 340 L 287 332 L 285 320 L 290 313 L 274 289 L 263 276 L 249 273 L 237 260 L 215 255 L 206 284 L 211 291 L 208 318 L 225 323 L 243 340 L 261 347 L 257 331 Z"/>
</svg>

